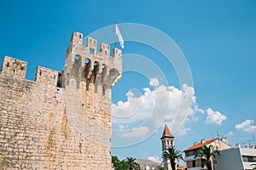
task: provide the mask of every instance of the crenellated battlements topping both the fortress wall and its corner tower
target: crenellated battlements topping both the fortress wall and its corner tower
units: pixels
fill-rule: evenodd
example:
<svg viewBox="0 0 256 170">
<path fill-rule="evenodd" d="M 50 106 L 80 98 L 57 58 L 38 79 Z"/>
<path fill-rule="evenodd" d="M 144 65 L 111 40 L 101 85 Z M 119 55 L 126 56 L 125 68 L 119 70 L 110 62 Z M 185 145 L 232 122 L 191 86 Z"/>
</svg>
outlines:
<svg viewBox="0 0 256 170">
<path fill-rule="evenodd" d="M 113 87 L 121 77 L 121 50 L 113 48 L 113 56 L 110 56 L 108 44 L 101 43 L 100 51 L 97 51 L 96 39 L 87 37 L 86 46 L 82 42 L 83 34 L 74 32 L 67 48 L 64 70 L 59 72 L 38 66 L 35 82 L 66 88 L 73 79 L 77 88 L 80 82 L 86 82 L 87 88 L 93 83 L 96 91 L 98 87 L 105 90 Z M 5 56 L 0 74 L 4 77 L 25 80 L 26 67 L 25 61 Z"/>
</svg>

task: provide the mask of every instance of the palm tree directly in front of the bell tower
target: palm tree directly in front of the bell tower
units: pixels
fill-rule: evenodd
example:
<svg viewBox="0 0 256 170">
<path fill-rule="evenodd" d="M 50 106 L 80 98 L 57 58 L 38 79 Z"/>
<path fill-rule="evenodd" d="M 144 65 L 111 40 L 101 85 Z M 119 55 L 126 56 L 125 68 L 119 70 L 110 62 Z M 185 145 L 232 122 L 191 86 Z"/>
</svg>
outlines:
<svg viewBox="0 0 256 170">
<path fill-rule="evenodd" d="M 172 170 L 176 169 L 176 161 L 183 160 L 183 155 L 180 150 L 176 150 L 175 147 L 169 147 L 162 154 L 164 161 L 171 161 Z M 184 160 L 183 160 L 184 161 Z"/>
</svg>

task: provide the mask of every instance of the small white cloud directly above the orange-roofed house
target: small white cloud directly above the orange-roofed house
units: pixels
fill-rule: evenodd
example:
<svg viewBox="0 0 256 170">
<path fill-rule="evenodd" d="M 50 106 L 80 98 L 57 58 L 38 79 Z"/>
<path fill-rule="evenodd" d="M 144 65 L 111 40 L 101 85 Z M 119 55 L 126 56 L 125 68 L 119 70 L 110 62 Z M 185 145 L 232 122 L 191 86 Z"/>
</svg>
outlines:
<svg viewBox="0 0 256 170">
<path fill-rule="evenodd" d="M 224 116 L 219 111 L 212 111 L 211 108 L 207 109 L 207 124 L 218 124 L 222 125 L 222 122 L 227 119 L 227 116 Z"/>
</svg>

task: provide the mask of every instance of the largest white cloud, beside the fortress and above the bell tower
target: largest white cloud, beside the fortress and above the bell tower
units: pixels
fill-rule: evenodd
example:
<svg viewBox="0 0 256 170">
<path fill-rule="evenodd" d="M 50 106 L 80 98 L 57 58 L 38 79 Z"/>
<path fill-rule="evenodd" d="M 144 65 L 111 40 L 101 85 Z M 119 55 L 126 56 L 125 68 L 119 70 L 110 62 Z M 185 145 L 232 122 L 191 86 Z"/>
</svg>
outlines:
<svg viewBox="0 0 256 170">
<path fill-rule="evenodd" d="M 119 100 L 112 105 L 113 124 L 119 127 L 117 131 L 113 131 L 113 136 L 141 139 L 154 133 L 165 121 L 171 124 L 170 130 L 173 134 L 185 135 L 190 130 L 185 127 L 185 122 L 197 121 L 196 117 L 193 118 L 195 112 L 203 113 L 196 103 L 193 87 L 186 84 L 181 89 L 164 86 L 156 78 L 151 78 L 149 85 L 154 89 L 143 88 L 140 96 L 129 91 L 125 101 Z M 129 125 L 130 131 L 125 128 L 125 131 L 120 132 L 123 127 L 119 125 L 122 124 Z"/>
</svg>

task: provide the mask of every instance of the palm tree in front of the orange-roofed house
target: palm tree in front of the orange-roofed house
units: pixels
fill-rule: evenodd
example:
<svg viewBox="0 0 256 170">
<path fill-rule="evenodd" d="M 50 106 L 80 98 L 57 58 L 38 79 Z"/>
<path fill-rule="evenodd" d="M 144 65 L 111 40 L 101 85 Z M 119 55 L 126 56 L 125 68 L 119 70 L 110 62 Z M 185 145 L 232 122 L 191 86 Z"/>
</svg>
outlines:
<svg viewBox="0 0 256 170">
<path fill-rule="evenodd" d="M 212 157 L 215 158 L 215 155 L 220 156 L 218 150 L 212 150 L 211 145 L 207 147 L 207 145 L 203 145 L 200 150 L 197 150 L 195 157 L 200 156 L 201 158 L 205 158 L 207 160 L 207 170 L 212 170 Z"/>
</svg>

